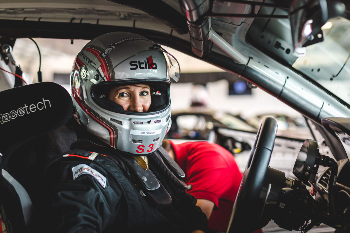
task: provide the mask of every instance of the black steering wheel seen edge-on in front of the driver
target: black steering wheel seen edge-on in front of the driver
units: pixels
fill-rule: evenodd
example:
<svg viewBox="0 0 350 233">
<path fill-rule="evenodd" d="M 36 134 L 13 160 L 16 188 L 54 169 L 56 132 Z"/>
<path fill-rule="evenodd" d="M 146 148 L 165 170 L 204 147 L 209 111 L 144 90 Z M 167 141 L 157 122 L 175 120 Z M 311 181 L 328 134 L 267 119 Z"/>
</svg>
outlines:
<svg viewBox="0 0 350 233">
<path fill-rule="evenodd" d="M 243 179 L 241 181 L 235 205 L 233 206 L 229 233 L 251 233 L 261 228 L 260 217 L 264 208 L 260 192 L 270 162 L 277 133 L 277 122 L 265 117 L 260 125 Z M 244 224 L 249 223 L 249 224 Z"/>
</svg>

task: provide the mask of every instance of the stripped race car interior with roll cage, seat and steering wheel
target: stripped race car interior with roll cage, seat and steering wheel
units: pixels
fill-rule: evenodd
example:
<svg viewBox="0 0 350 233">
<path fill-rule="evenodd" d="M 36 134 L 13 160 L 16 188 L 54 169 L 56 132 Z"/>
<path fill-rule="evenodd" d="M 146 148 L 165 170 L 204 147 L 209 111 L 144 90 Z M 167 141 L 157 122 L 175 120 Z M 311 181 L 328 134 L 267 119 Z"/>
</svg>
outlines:
<svg viewBox="0 0 350 233">
<path fill-rule="evenodd" d="M 349 232 L 349 20 L 345 0 L 1 1 L 0 214 L 7 231 L 36 231 L 48 206 L 40 167 L 76 139 L 69 93 L 43 82 L 40 68 L 26 85 L 12 55 L 16 39 L 74 44 L 128 31 L 238 75 L 307 119 L 313 137 L 296 140 L 294 177 L 270 164 L 274 152 L 291 147 L 276 137 L 273 117 L 239 140 L 248 144 L 248 162 L 226 232 L 251 233 L 271 220 L 288 231 L 322 224 Z"/>
</svg>

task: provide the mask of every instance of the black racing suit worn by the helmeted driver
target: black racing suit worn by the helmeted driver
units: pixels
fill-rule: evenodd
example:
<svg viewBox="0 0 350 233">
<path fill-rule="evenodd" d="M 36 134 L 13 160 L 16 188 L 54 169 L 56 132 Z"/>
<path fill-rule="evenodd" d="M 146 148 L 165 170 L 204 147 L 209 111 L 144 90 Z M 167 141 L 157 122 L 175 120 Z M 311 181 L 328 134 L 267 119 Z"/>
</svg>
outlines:
<svg viewBox="0 0 350 233">
<path fill-rule="evenodd" d="M 120 152 L 93 145 L 64 153 L 45 166 L 56 220 L 52 231 L 208 231 L 207 217 L 195 205 L 196 198 L 169 178 L 163 163 L 157 162 L 153 154 L 148 155 L 148 169 L 159 180 L 160 188 L 149 192 L 139 184 L 137 174 L 119 159 Z M 92 152 L 100 154 L 95 153 L 92 160 Z M 81 173 L 82 169 L 86 173 Z M 166 192 L 162 187 L 171 200 L 163 198 Z M 163 192 L 158 192 L 161 189 Z"/>
</svg>

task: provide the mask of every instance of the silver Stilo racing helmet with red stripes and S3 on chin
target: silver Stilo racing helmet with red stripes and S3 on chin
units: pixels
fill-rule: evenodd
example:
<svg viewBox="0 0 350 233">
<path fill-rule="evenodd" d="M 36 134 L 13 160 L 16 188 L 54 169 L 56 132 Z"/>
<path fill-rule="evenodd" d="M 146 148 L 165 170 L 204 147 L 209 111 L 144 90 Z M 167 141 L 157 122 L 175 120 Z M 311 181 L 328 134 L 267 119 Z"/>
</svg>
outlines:
<svg viewBox="0 0 350 233">
<path fill-rule="evenodd" d="M 130 32 L 96 37 L 78 53 L 70 84 L 75 118 L 111 147 L 147 155 L 162 144 L 171 126 L 170 78 L 179 80 L 177 60 L 160 45 Z M 147 112 L 125 111 L 108 99 L 116 86 L 151 88 Z"/>
</svg>

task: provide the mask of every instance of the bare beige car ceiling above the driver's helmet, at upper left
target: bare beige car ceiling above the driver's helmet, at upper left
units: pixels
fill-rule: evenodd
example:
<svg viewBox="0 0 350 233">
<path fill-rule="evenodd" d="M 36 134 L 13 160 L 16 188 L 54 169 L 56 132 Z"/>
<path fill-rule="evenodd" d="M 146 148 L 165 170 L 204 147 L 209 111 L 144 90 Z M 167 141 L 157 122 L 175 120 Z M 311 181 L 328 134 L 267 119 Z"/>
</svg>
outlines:
<svg viewBox="0 0 350 233">
<path fill-rule="evenodd" d="M 92 39 L 107 31 L 132 28 L 165 34 L 172 31 L 148 13 L 112 1 L 6 1 L 0 6 L 0 19 L 8 20 L 2 24 L 1 34 L 18 38 Z M 176 13 L 179 17 L 180 13 Z M 181 17 L 182 27 L 188 31 L 186 20 Z"/>
</svg>

